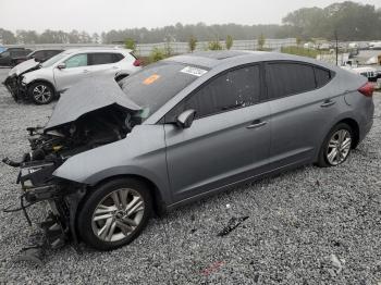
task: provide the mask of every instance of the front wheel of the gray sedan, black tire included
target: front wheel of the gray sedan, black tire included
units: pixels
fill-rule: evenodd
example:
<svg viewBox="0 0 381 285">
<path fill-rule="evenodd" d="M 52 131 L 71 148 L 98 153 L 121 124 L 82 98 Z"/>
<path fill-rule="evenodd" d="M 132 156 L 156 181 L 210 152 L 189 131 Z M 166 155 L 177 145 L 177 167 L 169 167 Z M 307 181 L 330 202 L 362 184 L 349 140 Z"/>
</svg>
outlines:
<svg viewBox="0 0 381 285">
<path fill-rule="evenodd" d="M 126 210 L 128 207 L 131 214 Z M 134 240 L 151 213 L 152 199 L 148 187 L 134 178 L 119 178 L 85 197 L 76 226 L 87 245 L 98 250 L 112 250 Z"/>
</svg>

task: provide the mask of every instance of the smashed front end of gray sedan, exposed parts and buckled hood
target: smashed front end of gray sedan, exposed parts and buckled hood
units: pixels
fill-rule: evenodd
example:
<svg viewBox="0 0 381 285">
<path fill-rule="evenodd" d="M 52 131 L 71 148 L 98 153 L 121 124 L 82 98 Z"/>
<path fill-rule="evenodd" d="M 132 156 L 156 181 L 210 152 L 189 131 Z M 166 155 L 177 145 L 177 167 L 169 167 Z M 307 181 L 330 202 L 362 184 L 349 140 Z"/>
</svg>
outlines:
<svg viewBox="0 0 381 285">
<path fill-rule="evenodd" d="M 44 239 L 23 250 L 23 260 L 39 260 L 46 249 L 60 248 L 67 243 L 78 248 L 78 205 L 91 186 L 58 177 L 56 170 L 77 153 L 125 138 L 135 125 L 142 123 L 140 108 L 118 97 L 122 94 L 115 95 L 120 89 L 116 83 L 89 84 L 100 84 L 113 95 L 105 96 L 103 88 L 99 92 L 99 88 L 88 84 L 69 90 L 58 102 L 46 127 L 27 128 L 30 151 L 16 161 L 2 160 L 10 166 L 20 168 L 16 183 L 22 189 L 20 206 L 9 207 L 5 212 L 23 211 L 32 225 L 28 207 L 47 203 L 50 208 L 46 220 L 39 224 L 45 233 Z M 83 88 L 93 89 L 93 94 L 83 94 Z"/>
</svg>

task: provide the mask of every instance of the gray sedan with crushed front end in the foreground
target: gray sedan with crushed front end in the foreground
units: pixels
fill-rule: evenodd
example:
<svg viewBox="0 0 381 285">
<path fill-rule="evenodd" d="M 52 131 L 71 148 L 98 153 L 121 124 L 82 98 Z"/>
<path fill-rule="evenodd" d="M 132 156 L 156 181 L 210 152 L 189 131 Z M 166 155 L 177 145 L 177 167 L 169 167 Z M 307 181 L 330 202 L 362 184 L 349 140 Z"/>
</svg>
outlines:
<svg viewBox="0 0 381 285">
<path fill-rule="evenodd" d="M 372 126 L 372 86 L 315 60 L 222 51 L 174 57 L 58 102 L 17 162 L 22 200 L 51 203 L 52 245 L 108 250 L 152 211 L 303 164 L 335 166 Z"/>
</svg>

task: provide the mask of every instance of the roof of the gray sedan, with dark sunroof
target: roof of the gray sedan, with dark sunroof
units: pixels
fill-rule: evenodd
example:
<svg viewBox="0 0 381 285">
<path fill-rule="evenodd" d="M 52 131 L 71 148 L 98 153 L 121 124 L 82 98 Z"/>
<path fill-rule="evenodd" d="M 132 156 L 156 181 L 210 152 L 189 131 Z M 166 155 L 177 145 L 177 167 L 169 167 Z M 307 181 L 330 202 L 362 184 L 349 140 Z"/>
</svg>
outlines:
<svg viewBox="0 0 381 285">
<path fill-rule="evenodd" d="M 248 62 L 260 62 L 260 61 L 298 61 L 306 62 L 311 64 L 317 64 L 324 66 L 327 69 L 332 69 L 331 65 L 328 65 L 321 61 L 315 59 L 298 57 L 287 53 L 280 52 L 267 52 L 267 51 L 248 51 L 248 50 L 224 50 L 224 51 L 202 51 L 194 52 L 183 55 L 177 55 L 169 58 L 164 61 L 174 61 L 183 64 L 196 65 L 206 69 L 214 69 L 217 66 L 234 65 L 235 62 L 247 60 Z"/>
</svg>

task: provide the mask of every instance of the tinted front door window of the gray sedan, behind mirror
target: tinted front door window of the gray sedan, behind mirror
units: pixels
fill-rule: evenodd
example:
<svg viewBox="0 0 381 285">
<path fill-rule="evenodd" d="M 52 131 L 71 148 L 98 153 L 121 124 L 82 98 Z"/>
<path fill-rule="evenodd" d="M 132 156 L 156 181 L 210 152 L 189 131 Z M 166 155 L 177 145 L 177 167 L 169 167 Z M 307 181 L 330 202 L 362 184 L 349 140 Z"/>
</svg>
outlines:
<svg viewBox="0 0 381 285">
<path fill-rule="evenodd" d="M 188 99 L 175 107 L 167 121 L 173 122 L 184 110 L 196 110 L 196 119 L 248 107 L 260 100 L 259 65 L 246 66 L 211 79 Z"/>
</svg>

